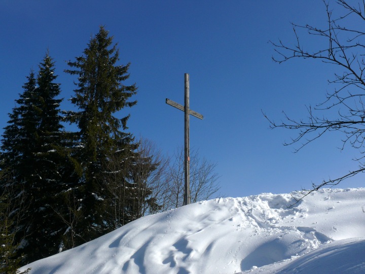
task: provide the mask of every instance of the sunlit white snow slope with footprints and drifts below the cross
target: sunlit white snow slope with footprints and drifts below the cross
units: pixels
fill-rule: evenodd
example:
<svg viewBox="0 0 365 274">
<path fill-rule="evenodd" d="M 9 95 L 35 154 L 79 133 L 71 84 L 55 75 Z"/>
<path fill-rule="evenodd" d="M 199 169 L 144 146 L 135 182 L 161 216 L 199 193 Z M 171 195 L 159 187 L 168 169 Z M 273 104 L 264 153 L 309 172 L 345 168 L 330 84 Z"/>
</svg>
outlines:
<svg viewBox="0 0 365 274">
<path fill-rule="evenodd" d="M 30 273 L 365 273 L 365 188 L 202 201 L 146 216 Z"/>
</svg>

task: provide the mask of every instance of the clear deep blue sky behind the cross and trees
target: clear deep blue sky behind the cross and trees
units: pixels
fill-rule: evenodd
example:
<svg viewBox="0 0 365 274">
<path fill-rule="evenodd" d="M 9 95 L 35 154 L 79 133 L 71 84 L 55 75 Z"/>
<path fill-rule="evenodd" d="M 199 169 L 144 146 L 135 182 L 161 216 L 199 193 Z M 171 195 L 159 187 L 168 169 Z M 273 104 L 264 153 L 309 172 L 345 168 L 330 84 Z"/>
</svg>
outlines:
<svg viewBox="0 0 365 274">
<path fill-rule="evenodd" d="M 222 192 L 246 196 L 309 188 L 311 182 L 341 176 L 357 167 L 357 154 L 340 151 L 340 136 L 327 135 L 299 153 L 282 143 L 294 131 L 270 130 L 263 117 L 279 121 L 281 111 L 306 117 L 333 87 L 334 67 L 310 60 L 274 63 L 269 40 L 294 44 L 290 22 L 325 23 L 319 0 L 277 1 L 13 1 L 0 4 L 0 128 L 30 68 L 47 49 L 56 61 L 62 109 L 72 106 L 75 79 L 66 60 L 82 55 L 91 35 L 105 25 L 131 62 L 130 83 L 138 86 L 129 130 L 166 153 L 184 145 L 184 117 L 165 98 L 184 104 L 184 73 L 190 74 L 191 147 L 217 163 Z M 0 131 L 2 133 L 3 130 Z M 339 186 L 363 186 L 363 176 Z"/>
</svg>

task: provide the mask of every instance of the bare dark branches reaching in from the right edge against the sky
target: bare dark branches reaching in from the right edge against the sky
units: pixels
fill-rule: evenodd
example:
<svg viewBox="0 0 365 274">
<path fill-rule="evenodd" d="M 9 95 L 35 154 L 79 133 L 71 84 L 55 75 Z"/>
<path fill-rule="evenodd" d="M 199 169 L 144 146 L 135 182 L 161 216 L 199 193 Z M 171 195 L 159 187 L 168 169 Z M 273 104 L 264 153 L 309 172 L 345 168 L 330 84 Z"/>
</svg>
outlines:
<svg viewBox="0 0 365 274">
<path fill-rule="evenodd" d="M 288 46 L 282 41 L 271 42 L 277 53 L 273 60 L 283 63 L 291 59 L 316 59 L 334 65 L 339 69 L 330 83 L 335 85 L 332 92 L 327 92 L 326 99 L 315 107 L 307 107 L 308 119 L 295 120 L 285 113 L 281 123 L 270 121 L 271 128 L 288 128 L 298 131 L 298 135 L 284 145 L 299 144 L 301 148 L 333 131 L 343 134 L 343 145 L 365 153 L 365 32 L 361 26 L 365 23 L 365 1 L 350 4 L 347 0 L 337 0 L 336 9 L 331 10 L 329 3 L 323 1 L 326 11 L 324 27 L 293 24 L 296 44 Z M 336 14 L 335 14 L 336 12 Z M 304 31 L 301 33 L 301 31 Z M 317 48 L 305 48 L 301 35 L 306 39 L 314 38 Z M 326 117 L 324 114 L 333 115 Z M 323 186 L 333 186 L 341 181 L 365 172 L 365 156 L 356 158 L 358 168 L 336 178 L 313 184 L 313 188 L 302 192 L 308 195 Z"/>
</svg>

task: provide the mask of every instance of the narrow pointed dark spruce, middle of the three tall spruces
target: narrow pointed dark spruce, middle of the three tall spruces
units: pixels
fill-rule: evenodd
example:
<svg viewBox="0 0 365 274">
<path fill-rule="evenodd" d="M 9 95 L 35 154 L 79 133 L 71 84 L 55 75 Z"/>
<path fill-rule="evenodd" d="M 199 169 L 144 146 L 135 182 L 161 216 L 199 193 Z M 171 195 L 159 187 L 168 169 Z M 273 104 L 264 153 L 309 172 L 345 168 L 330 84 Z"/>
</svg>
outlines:
<svg viewBox="0 0 365 274">
<path fill-rule="evenodd" d="M 28 245 L 24 252 L 30 261 L 47 257 L 58 251 L 60 220 L 55 213 L 55 196 L 63 189 L 61 166 L 64 164 L 62 148 L 61 116 L 56 99 L 60 94 L 58 83 L 54 83 L 54 63 L 47 54 L 39 65 L 38 88 L 33 110 L 36 112 L 36 130 L 33 136 L 33 170 L 27 194 L 32 198 L 32 220 L 26 236 Z"/>
</svg>

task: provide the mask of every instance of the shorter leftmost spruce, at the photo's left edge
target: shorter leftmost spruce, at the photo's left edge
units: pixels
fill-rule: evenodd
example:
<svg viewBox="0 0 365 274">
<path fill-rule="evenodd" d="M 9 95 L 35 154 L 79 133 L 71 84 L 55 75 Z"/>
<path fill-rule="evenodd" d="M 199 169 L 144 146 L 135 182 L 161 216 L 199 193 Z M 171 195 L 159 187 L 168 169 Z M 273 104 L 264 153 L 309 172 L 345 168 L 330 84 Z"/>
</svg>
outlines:
<svg viewBox="0 0 365 274">
<path fill-rule="evenodd" d="M 17 107 L 13 108 L 12 113 L 9 114 L 10 119 L 4 128 L 1 146 L 1 189 L 12 189 L 11 193 L 7 193 L 7 198 L 10 200 L 7 207 L 12 208 L 12 211 L 18 215 L 17 226 L 12 227 L 12 230 L 7 227 L 8 233 L 14 235 L 15 245 L 26 243 L 25 231 L 31 219 L 29 216 L 31 214 L 24 208 L 24 205 L 31 204 L 31 196 L 25 189 L 30 184 L 32 174 L 33 137 L 37 123 L 36 113 L 32 107 L 35 102 L 36 89 L 33 71 L 30 72 L 27 80 L 22 86 L 23 93 L 19 94 L 19 99 L 16 100 Z M 7 217 L 4 215 L 4 218 Z"/>
</svg>

